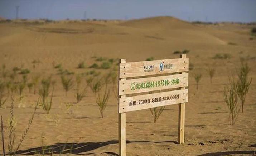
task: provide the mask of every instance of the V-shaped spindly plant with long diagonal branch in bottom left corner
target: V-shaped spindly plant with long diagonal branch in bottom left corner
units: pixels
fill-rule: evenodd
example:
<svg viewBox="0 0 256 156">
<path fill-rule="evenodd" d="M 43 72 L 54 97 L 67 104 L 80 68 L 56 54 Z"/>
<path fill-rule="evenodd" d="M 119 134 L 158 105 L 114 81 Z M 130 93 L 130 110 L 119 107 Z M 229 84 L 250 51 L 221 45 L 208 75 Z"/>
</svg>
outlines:
<svg viewBox="0 0 256 156">
<path fill-rule="evenodd" d="M 26 129 L 24 130 L 23 134 L 21 135 L 21 138 L 19 139 L 17 145 L 16 145 L 16 148 L 14 147 L 14 144 L 15 144 L 15 141 L 16 141 L 16 130 L 15 130 L 15 117 L 14 117 L 14 111 L 13 111 L 13 106 L 14 104 L 14 99 L 13 97 L 11 98 L 11 109 L 10 109 L 10 119 L 9 119 L 9 134 L 8 134 L 8 139 L 9 139 L 9 144 L 8 144 L 8 155 L 16 155 L 17 151 L 19 150 L 22 142 L 24 141 L 26 135 L 28 134 L 28 131 L 29 131 L 29 128 L 32 124 L 32 121 L 34 119 L 34 115 L 35 115 L 35 112 L 37 110 L 37 105 L 38 105 L 38 102 L 36 103 L 35 105 L 35 108 L 34 108 L 34 112 L 33 114 L 31 115 L 30 119 L 29 119 L 29 122 L 28 122 L 28 125 L 26 127 Z"/>
</svg>

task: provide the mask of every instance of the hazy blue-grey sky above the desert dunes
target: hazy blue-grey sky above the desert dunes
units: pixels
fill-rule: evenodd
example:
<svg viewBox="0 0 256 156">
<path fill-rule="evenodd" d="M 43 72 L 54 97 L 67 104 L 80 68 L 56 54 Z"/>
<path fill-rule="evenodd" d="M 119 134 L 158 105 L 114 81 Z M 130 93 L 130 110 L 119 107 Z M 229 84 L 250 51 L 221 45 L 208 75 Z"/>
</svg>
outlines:
<svg viewBox="0 0 256 156">
<path fill-rule="evenodd" d="M 139 19 L 256 22 L 256 0 L 0 0 L 0 17 L 22 19 Z"/>
</svg>

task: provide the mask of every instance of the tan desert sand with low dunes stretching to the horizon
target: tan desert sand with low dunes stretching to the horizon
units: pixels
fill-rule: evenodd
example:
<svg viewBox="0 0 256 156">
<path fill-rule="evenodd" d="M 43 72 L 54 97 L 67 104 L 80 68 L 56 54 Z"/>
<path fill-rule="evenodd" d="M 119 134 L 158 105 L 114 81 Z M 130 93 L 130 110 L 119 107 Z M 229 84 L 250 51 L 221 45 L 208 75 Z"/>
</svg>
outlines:
<svg viewBox="0 0 256 156">
<path fill-rule="evenodd" d="M 166 106 L 154 123 L 150 110 L 126 114 L 126 154 L 128 156 L 162 155 L 253 155 L 256 151 L 256 38 L 249 40 L 251 25 L 191 24 L 172 17 L 154 17 L 131 21 L 59 21 L 0 23 L 0 64 L 12 72 L 14 67 L 30 69 L 28 78 L 35 74 L 53 74 L 56 87 L 49 115 L 39 107 L 19 154 L 32 155 L 42 147 L 53 149 L 53 154 L 118 155 L 118 107 L 111 91 L 108 106 L 101 118 L 95 94 L 88 88 L 87 97 L 76 104 L 75 87 L 67 97 L 62 88 L 55 64 L 76 74 L 91 69 L 77 69 L 81 61 L 90 66 L 96 57 L 126 58 L 127 62 L 179 58 L 175 50 L 188 49 L 189 102 L 185 106 L 185 143 L 178 140 L 178 105 Z M 254 26 L 255 27 L 255 26 Z M 229 54 L 230 59 L 213 59 L 215 54 Z M 239 67 L 240 57 L 249 55 L 252 83 L 244 113 L 235 125 L 228 124 L 228 108 L 223 99 L 228 75 Z M 40 63 L 33 68 L 33 60 Z M 113 65 L 114 66 L 114 65 Z M 208 66 L 216 69 L 210 84 Z M 112 68 L 112 67 L 111 67 Z M 97 77 L 109 70 L 96 69 Z M 196 90 L 193 73 L 201 72 L 202 80 Z M 73 76 L 74 77 L 74 76 Z M 85 76 L 87 78 L 88 76 Z M 1 78 L 4 80 L 4 78 Z M 21 76 L 19 75 L 19 79 Z M 83 86 L 86 83 L 83 81 Z M 112 88 L 112 84 L 109 84 Z M 24 108 L 15 101 L 14 113 L 17 141 L 25 129 L 38 94 L 23 95 Z M 15 99 L 18 99 L 15 93 Z M 64 102 L 73 103 L 69 113 Z M 238 102 L 241 105 L 240 102 Z M 10 98 L 0 114 L 4 120 L 5 146 L 8 144 L 8 116 Z M 58 122 L 56 120 L 59 120 Z M 56 121 L 56 122 L 55 122 Z M 0 144 L 2 145 L 2 143 Z M 72 150 L 70 150 L 72 149 Z M 0 153 L 3 153 L 0 147 Z M 256 153 L 256 152 L 255 152 Z"/>
</svg>

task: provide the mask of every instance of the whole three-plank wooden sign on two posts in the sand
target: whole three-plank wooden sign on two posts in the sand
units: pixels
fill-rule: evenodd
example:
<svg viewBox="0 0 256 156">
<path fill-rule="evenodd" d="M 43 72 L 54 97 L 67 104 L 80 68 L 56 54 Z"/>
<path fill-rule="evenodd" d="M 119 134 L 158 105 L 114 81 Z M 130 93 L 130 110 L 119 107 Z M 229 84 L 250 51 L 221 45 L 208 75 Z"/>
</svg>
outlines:
<svg viewBox="0 0 256 156">
<path fill-rule="evenodd" d="M 179 105 L 178 142 L 184 143 L 188 64 L 180 58 L 126 63 L 119 59 L 119 155 L 126 155 L 126 112 Z M 146 76 L 146 77 L 145 77 Z M 143 78 L 141 78 L 143 77 Z M 129 79 L 126 79 L 129 78 Z M 154 93 L 152 93 L 154 92 Z"/>
</svg>

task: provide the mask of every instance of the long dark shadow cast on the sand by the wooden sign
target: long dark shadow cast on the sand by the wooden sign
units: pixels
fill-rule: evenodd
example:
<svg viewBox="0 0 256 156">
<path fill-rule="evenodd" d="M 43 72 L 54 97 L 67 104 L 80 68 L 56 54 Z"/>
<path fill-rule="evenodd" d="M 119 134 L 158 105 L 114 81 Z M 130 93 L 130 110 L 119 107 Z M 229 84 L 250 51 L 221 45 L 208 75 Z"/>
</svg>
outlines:
<svg viewBox="0 0 256 156">
<path fill-rule="evenodd" d="M 126 140 L 126 144 L 130 143 L 174 143 L 178 144 L 176 141 L 129 141 Z M 95 153 L 85 153 L 92 150 L 98 149 L 111 144 L 118 144 L 118 140 L 111 140 L 105 142 L 86 142 L 86 143 L 56 143 L 49 146 L 35 147 L 28 150 L 19 150 L 16 154 L 23 155 L 34 155 L 34 154 L 76 154 L 76 155 L 90 155 Z M 110 155 L 118 155 L 114 152 L 105 152 Z"/>
</svg>

